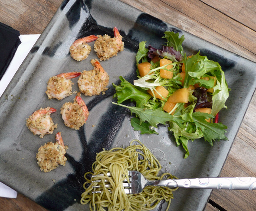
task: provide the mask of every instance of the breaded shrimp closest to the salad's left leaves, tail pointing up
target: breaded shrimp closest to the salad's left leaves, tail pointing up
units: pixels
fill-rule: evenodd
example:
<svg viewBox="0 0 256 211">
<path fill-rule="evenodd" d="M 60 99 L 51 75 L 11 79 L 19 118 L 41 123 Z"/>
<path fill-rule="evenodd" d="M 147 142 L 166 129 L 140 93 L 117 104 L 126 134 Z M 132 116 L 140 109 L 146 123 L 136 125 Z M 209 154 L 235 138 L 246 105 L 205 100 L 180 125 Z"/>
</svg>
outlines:
<svg viewBox="0 0 256 211">
<path fill-rule="evenodd" d="M 77 83 L 79 90 L 85 94 L 85 96 L 98 95 L 101 92 L 105 94 L 108 89 L 109 76 L 108 73 L 102 68 L 97 59 L 91 60 L 93 70 L 82 71 Z"/>
</svg>

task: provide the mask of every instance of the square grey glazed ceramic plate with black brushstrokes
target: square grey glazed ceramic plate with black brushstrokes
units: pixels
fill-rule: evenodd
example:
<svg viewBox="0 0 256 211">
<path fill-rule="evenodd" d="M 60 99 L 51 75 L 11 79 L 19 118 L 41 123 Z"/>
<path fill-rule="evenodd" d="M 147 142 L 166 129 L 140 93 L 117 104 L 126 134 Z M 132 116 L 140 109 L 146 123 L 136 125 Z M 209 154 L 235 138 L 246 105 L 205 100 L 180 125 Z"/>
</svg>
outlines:
<svg viewBox="0 0 256 211">
<path fill-rule="evenodd" d="M 113 6 L 115 5 L 115 6 Z M 80 130 L 66 127 L 60 115 L 65 102 L 73 101 L 75 94 L 61 101 L 49 100 L 45 94 L 50 77 L 62 72 L 91 70 L 90 60 L 95 52 L 82 62 L 69 55 L 69 46 L 75 39 L 94 35 L 113 36 L 116 26 L 125 42 L 125 50 L 101 65 L 110 76 L 104 95 L 85 97 L 90 115 Z M 200 50 L 201 55 L 217 61 L 225 71 L 231 88 L 226 102 L 228 110 L 220 112 L 220 122 L 228 126 L 229 141 L 215 142 L 210 146 L 203 140 L 189 143 L 190 156 L 184 159 L 184 151 L 177 147 L 166 126 L 158 128 L 159 135 L 141 135 L 133 131 L 130 111 L 112 104 L 119 76 L 132 82 L 136 78 L 135 55 L 138 43 L 147 41 L 155 48 L 164 44 L 165 31 L 184 34 L 184 51 L 187 55 Z M 93 43 L 89 43 L 93 46 Z M 50 21 L 23 65 L 17 71 L 7 90 L 0 98 L 0 181 L 26 195 L 49 210 L 88 210 L 80 204 L 84 173 L 91 171 L 97 152 L 102 148 L 127 146 L 133 139 L 146 145 L 163 166 L 163 172 L 171 172 L 179 178 L 216 177 L 225 162 L 234 137 L 246 112 L 256 87 L 256 65 L 231 52 L 201 40 L 148 14 L 117 0 L 64 0 Z M 73 91 L 78 91 L 78 78 L 72 79 Z M 243 82 L 247 88 L 244 89 Z M 41 107 L 54 107 L 51 116 L 58 128 L 43 139 L 34 136 L 26 127 L 26 118 Z M 93 127 L 94 126 L 94 127 Z M 67 150 L 66 166 L 44 173 L 39 171 L 36 153 L 39 146 L 55 141 L 55 134 L 62 132 Z M 179 189 L 174 192 L 170 210 L 202 211 L 211 190 Z M 156 210 L 164 210 L 161 203 Z"/>
</svg>

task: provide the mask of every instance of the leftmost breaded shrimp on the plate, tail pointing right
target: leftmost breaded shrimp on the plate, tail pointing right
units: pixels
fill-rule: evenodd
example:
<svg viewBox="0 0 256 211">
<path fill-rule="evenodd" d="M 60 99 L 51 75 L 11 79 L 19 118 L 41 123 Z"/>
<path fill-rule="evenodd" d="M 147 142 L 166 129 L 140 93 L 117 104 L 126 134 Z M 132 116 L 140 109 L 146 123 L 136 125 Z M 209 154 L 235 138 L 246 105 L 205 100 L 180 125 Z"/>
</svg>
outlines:
<svg viewBox="0 0 256 211">
<path fill-rule="evenodd" d="M 53 112 L 56 112 L 56 109 L 51 107 L 36 110 L 26 119 L 26 126 L 34 135 L 40 135 L 40 138 L 46 134 L 52 134 L 53 130 L 57 128 L 57 124 L 54 124 L 50 117 Z"/>
</svg>

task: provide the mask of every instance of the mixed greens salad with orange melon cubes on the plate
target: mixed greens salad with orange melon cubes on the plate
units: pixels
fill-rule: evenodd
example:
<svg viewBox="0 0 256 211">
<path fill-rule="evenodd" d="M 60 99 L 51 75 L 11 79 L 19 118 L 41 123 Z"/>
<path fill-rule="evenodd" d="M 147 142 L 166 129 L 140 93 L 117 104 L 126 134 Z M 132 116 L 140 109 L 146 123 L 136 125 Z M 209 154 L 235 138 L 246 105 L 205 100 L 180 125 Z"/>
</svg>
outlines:
<svg viewBox="0 0 256 211">
<path fill-rule="evenodd" d="M 189 140 L 203 137 L 210 145 L 214 140 L 227 140 L 227 127 L 218 123 L 218 113 L 226 108 L 229 88 L 219 63 L 199 52 L 187 57 L 182 47 L 184 35 L 164 32 L 162 38 L 167 42 L 161 49 L 139 43 L 138 79 L 131 84 L 120 76 L 121 84 L 113 84 L 117 97 L 113 104 L 135 114 L 131 126 L 141 134 L 158 134 L 154 128 L 167 124 L 187 158 Z M 135 106 L 121 104 L 128 100 Z"/>
</svg>

